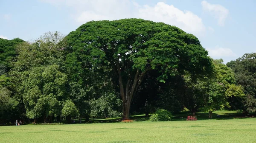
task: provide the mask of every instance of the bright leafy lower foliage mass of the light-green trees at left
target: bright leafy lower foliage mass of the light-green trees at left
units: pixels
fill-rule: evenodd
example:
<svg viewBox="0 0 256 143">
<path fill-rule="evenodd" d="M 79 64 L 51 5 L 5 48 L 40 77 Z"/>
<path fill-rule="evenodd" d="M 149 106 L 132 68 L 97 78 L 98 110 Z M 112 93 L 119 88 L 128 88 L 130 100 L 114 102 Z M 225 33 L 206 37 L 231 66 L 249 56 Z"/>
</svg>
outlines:
<svg viewBox="0 0 256 143">
<path fill-rule="evenodd" d="M 58 115 L 60 101 L 66 96 L 67 76 L 58 65 L 33 67 L 22 72 L 20 91 L 29 118 Z"/>
</svg>

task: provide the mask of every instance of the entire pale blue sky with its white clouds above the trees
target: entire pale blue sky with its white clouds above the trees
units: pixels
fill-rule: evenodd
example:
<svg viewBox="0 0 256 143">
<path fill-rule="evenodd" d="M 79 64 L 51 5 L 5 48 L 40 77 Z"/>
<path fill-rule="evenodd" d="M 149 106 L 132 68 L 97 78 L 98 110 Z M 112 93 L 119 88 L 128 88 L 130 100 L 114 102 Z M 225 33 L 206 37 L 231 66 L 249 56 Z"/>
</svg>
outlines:
<svg viewBox="0 0 256 143">
<path fill-rule="evenodd" d="M 143 18 L 198 37 L 224 63 L 256 52 L 256 0 L 0 0 L 0 38 L 68 34 L 91 20 Z"/>
</svg>

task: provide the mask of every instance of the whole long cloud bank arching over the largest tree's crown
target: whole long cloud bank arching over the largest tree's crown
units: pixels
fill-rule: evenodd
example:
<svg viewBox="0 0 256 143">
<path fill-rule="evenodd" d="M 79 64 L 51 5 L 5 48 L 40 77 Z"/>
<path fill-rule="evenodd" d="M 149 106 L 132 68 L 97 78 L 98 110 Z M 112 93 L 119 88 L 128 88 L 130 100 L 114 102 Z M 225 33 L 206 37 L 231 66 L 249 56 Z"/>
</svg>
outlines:
<svg viewBox="0 0 256 143">
<path fill-rule="evenodd" d="M 163 2 L 151 7 L 141 6 L 136 0 L 41 0 L 55 6 L 66 6 L 74 11 L 71 15 L 79 24 L 91 20 L 119 20 L 142 18 L 175 25 L 186 32 L 203 35 L 202 19 L 191 11 L 181 11 Z"/>
</svg>

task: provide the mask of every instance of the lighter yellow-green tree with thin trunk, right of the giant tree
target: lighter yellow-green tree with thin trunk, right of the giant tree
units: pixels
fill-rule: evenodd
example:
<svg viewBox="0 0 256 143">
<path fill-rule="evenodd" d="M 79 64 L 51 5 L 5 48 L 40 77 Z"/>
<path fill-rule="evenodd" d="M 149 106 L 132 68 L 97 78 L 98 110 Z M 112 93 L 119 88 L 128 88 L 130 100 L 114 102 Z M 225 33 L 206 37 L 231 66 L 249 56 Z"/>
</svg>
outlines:
<svg viewBox="0 0 256 143">
<path fill-rule="evenodd" d="M 236 85 L 233 71 L 222 62 L 222 59 L 213 60 L 213 76 L 200 78 L 195 84 L 203 95 L 204 110 L 209 111 L 209 118 L 214 110 L 230 108 L 229 98 L 244 96 L 243 88 Z"/>
</svg>

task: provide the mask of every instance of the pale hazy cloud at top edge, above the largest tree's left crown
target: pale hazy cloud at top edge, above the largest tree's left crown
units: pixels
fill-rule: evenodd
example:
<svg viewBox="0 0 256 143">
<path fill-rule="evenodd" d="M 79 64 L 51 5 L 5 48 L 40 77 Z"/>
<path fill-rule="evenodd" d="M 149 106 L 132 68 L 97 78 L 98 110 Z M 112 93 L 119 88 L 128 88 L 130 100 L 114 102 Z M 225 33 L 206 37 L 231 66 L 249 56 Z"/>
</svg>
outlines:
<svg viewBox="0 0 256 143">
<path fill-rule="evenodd" d="M 71 8 L 79 24 L 92 20 L 118 20 L 133 15 L 130 0 L 41 0 L 55 6 Z"/>
</svg>

